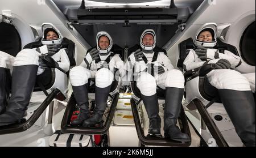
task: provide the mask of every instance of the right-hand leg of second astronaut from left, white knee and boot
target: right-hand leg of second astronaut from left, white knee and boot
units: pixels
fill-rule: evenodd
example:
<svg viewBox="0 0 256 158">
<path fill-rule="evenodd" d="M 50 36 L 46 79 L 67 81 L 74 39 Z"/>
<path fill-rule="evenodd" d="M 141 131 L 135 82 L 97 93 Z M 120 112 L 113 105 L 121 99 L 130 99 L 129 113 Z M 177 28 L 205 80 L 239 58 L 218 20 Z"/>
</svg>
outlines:
<svg viewBox="0 0 256 158">
<path fill-rule="evenodd" d="M 106 68 L 102 68 L 96 72 L 95 75 L 95 104 L 93 116 L 85 119 L 82 123 L 84 127 L 96 125 L 102 121 L 102 116 L 105 112 L 111 84 L 114 80 L 114 74 Z"/>
</svg>

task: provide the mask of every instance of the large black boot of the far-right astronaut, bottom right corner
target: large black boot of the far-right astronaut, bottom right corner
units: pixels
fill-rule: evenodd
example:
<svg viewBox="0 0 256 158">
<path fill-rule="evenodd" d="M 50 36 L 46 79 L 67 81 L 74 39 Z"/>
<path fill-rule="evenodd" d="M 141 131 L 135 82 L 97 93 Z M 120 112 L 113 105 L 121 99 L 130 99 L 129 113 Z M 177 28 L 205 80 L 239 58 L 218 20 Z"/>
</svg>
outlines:
<svg viewBox="0 0 256 158">
<path fill-rule="evenodd" d="M 246 147 L 255 147 L 255 101 L 251 91 L 219 89 L 221 101 Z"/>
</svg>

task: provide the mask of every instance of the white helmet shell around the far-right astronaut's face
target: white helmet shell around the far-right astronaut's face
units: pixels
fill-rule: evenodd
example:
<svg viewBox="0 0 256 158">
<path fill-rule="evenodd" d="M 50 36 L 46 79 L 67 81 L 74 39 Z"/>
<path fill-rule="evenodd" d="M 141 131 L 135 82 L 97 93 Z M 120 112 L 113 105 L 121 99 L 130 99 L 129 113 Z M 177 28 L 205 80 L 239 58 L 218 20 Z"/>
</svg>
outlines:
<svg viewBox="0 0 256 158">
<path fill-rule="evenodd" d="M 200 41 L 197 39 L 201 32 L 209 31 L 212 34 L 212 41 Z M 193 40 L 194 44 L 197 46 L 204 46 L 204 47 L 213 47 L 217 44 L 217 24 L 216 23 L 206 23 L 204 24 L 197 32 L 196 36 Z"/>
</svg>

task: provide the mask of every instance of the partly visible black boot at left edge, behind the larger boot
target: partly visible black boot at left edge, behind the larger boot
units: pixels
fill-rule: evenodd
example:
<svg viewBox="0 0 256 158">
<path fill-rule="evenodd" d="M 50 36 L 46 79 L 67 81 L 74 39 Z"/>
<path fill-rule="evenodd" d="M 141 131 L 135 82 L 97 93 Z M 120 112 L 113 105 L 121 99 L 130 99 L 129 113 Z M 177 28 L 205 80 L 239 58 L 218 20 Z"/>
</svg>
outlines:
<svg viewBox="0 0 256 158">
<path fill-rule="evenodd" d="M 5 112 L 9 99 L 10 86 L 7 83 L 6 69 L 0 67 L 0 114 Z"/>
</svg>

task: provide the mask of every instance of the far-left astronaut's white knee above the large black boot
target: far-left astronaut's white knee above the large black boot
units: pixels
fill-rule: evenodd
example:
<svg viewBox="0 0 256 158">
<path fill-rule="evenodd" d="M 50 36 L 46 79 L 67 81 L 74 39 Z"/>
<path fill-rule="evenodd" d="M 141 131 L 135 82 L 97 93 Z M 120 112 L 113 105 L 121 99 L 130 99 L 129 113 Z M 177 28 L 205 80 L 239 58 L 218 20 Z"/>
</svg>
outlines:
<svg viewBox="0 0 256 158">
<path fill-rule="evenodd" d="M 35 49 L 23 49 L 14 59 L 14 66 L 39 65 L 39 55 Z"/>
</svg>

